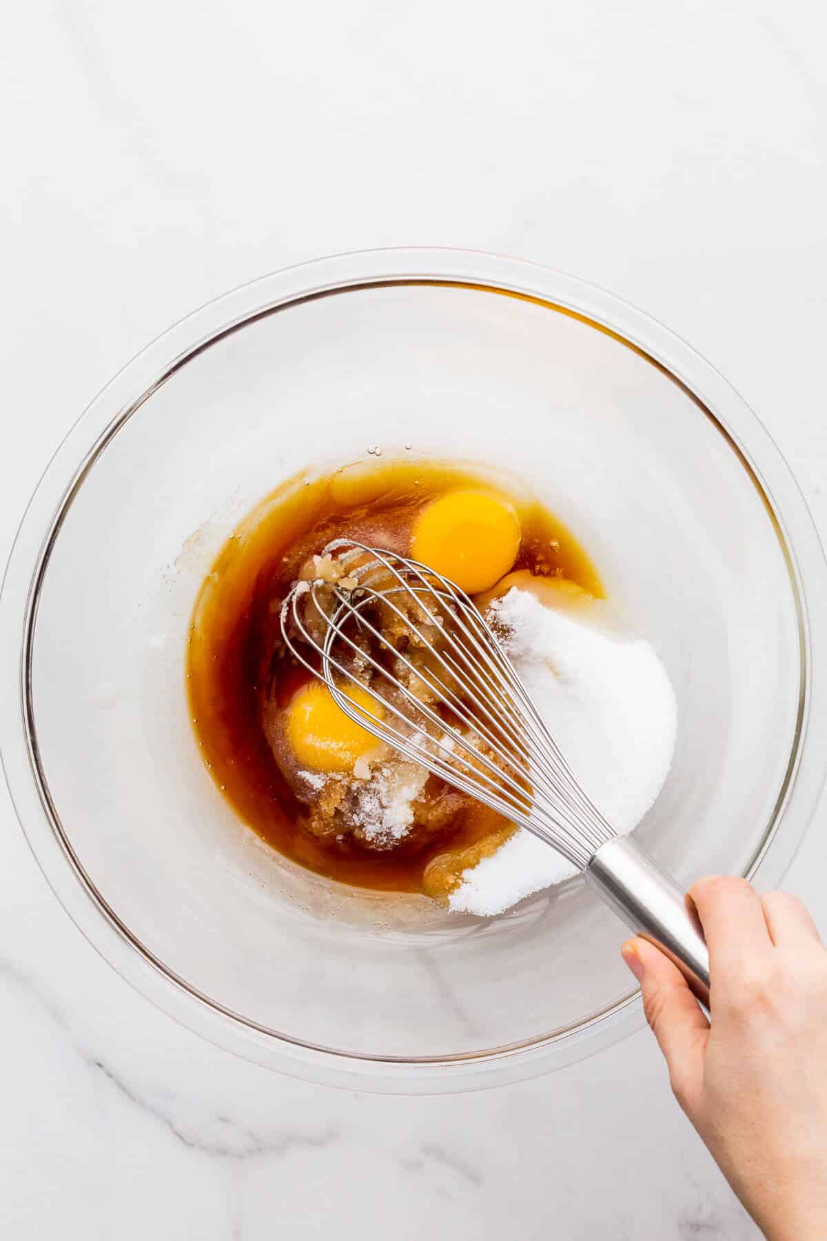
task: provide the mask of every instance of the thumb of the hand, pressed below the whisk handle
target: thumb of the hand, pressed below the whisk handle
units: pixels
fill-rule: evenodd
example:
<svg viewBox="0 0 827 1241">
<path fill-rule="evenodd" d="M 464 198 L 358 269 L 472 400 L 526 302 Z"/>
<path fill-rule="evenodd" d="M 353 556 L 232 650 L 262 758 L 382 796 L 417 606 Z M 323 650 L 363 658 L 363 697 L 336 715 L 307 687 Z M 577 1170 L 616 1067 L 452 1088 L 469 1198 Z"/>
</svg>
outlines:
<svg viewBox="0 0 827 1241">
<path fill-rule="evenodd" d="M 676 1098 L 691 1111 L 703 1077 L 709 1023 L 681 970 L 655 944 L 637 936 L 621 954 L 640 983 L 643 1011 L 670 1070 Z"/>
</svg>

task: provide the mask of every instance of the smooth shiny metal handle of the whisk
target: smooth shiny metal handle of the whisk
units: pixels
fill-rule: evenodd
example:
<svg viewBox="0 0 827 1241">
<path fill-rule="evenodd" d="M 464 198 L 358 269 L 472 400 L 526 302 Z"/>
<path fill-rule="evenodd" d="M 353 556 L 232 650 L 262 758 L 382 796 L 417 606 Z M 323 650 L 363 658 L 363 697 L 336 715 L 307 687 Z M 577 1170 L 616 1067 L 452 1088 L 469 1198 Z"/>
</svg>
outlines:
<svg viewBox="0 0 827 1241">
<path fill-rule="evenodd" d="M 589 887 L 636 934 L 678 967 L 709 1008 L 709 952 L 692 897 L 627 836 L 601 845 L 585 869 Z"/>
</svg>

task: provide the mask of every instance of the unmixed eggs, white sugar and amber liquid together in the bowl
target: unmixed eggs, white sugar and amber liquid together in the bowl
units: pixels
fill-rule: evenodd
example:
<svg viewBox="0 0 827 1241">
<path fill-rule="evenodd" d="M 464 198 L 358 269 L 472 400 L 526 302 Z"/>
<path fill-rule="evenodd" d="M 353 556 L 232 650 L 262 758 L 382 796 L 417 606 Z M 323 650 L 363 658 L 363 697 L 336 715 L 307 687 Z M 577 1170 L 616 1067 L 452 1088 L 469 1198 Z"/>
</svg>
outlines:
<svg viewBox="0 0 827 1241">
<path fill-rule="evenodd" d="M 243 820 L 330 879 L 479 915 L 573 874 L 529 833 L 378 742 L 284 648 L 281 602 L 296 580 L 336 576 L 324 555 L 335 539 L 413 555 L 470 593 L 593 799 L 619 831 L 636 825 L 676 733 L 655 650 L 616 625 L 585 551 L 517 484 L 422 462 L 291 480 L 233 532 L 201 588 L 191 717 Z M 392 639 L 404 644 L 404 627 Z M 348 692 L 361 705 L 362 691 Z"/>
</svg>

